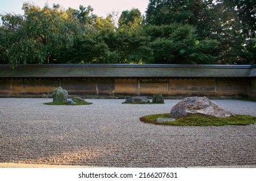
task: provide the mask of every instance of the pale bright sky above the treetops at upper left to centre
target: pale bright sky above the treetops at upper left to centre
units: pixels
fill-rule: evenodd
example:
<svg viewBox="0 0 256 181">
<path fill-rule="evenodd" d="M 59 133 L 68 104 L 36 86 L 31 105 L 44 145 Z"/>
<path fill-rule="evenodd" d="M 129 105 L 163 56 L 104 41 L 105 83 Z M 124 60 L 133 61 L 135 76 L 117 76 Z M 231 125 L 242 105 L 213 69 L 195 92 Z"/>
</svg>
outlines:
<svg viewBox="0 0 256 181">
<path fill-rule="evenodd" d="M 148 6 L 148 0 L 1 0 L 0 14 L 23 14 L 21 10 L 23 3 L 30 2 L 41 8 L 48 3 L 50 7 L 55 4 L 61 5 L 67 9 L 69 7 L 78 9 L 79 5 L 92 6 L 93 14 L 97 16 L 106 17 L 111 12 L 119 12 L 119 16 L 123 10 L 131 10 L 132 8 L 139 8 L 141 14 L 145 14 Z"/>
</svg>

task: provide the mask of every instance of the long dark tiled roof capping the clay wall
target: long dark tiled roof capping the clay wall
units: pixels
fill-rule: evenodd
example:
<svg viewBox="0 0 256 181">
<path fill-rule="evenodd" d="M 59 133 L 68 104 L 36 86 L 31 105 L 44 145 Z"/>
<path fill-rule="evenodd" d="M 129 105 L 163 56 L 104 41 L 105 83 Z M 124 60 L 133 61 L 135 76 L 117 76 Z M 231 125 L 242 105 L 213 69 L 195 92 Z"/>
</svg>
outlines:
<svg viewBox="0 0 256 181">
<path fill-rule="evenodd" d="M 256 65 L 0 65 L 0 78 L 252 78 Z"/>
</svg>

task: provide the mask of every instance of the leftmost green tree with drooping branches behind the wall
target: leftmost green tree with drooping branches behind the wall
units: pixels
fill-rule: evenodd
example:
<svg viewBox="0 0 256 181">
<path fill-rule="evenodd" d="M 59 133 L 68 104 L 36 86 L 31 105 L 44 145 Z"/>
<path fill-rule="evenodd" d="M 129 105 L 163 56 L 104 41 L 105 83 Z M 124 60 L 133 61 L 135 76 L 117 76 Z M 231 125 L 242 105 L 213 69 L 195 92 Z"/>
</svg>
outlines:
<svg viewBox="0 0 256 181">
<path fill-rule="evenodd" d="M 2 16 L 8 40 L 8 61 L 19 63 L 54 63 L 60 50 L 74 45 L 81 27 L 69 11 L 60 6 L 40 8 L 23 4 L 24 17 Z"/>
</svg>

